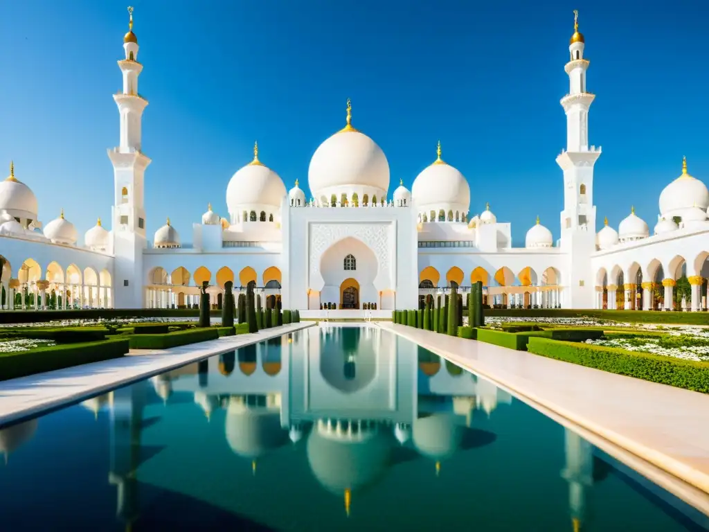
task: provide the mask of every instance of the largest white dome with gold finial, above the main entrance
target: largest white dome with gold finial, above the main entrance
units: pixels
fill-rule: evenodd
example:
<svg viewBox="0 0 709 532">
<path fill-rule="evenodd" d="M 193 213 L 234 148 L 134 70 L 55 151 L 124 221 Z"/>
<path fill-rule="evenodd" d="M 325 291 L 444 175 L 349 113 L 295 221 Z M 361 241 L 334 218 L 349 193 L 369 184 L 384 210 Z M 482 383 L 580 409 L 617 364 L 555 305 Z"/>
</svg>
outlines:
<svg viewBox="0 0 709 532">
<path fill-rule="evenodd" d="M 347 126 L 316 150 L 308 168 L 308 185 L 318 199 L 347 193 L 349 188 L 359 194 L 380 195 L 389 189 L 389 162 L 374 140 L 352 127 L 349 100 Z"/>
</svg>

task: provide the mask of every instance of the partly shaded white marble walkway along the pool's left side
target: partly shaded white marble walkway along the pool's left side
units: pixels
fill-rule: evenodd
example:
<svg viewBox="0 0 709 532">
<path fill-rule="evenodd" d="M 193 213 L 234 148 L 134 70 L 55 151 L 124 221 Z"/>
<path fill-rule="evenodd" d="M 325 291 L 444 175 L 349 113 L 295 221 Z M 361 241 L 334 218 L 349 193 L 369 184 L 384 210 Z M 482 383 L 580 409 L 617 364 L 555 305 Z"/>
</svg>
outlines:
<svg viewBox="0 0 709 532">
<path fill-rule="evenodd" d="M 223 336 L 218 340 L 165 350 L 146 350 L 140 355 L 126 355 L 0 381 L 0 426 L 60 409 L 205 358 L 314 326 L 315 322 L 301 321 L 257 333 Z"/>
</svg>

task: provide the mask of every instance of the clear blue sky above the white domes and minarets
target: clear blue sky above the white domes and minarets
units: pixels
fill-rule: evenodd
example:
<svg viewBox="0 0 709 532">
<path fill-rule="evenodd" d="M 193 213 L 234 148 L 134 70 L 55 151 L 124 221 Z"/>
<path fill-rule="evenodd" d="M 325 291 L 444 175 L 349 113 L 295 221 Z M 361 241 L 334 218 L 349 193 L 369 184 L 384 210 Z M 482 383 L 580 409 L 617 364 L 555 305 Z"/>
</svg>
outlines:
<svg viewBox="0 0 709 532">
<path fill-rule="evenodd" d="M 147 230 L 167 216 L 191 240 L 211 201 L 226 214 L 231 175 L 260 159 L 307 183 L 318 145 L 353 123 L 386 153 L 389 194 L 435 158 L 470 182 L 523 245 L 537 214 L 559 237 L 566 143 L 559 99 L 580 11 L 595 93 L 590 142 L 603 146 L 594 201 L 618 226 L 631 204 L 652 231 L 663 187 L 709 180 L 706 21 L 696 0 L 131 0 L 140 93 L 150 101 Z M 23 0 L 3 6 L 0 161 L 38 196 L 47 223 L 64 207 L 80 233 L 110 219 L 126 1 Z M 1 175 L 1 174 L 0 174 Z M 306 190 L 306 194 L 308 191 Z M 309 194 L 308 194 L 309 197 Z"/>
</svg>

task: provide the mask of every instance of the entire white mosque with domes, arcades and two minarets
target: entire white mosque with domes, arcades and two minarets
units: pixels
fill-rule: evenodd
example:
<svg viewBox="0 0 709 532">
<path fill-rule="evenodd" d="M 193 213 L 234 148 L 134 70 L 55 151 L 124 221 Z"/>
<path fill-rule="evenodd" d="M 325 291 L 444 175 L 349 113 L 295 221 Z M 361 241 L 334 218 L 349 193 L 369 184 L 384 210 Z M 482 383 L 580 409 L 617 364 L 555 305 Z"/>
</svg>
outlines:
<svg viewBox="0 0 709 532">
<path fill-rule="evenodd" d="M 466 292 L 481 281 L 486 304 L 494 306 L 670 310 L 676 281 L 685 277 L 691 294 L 681 306 L 706 309 L 709 191 L 686 160 L 659 196 L 652 234 L 630 205 L 618 230 L 605 223 L 596 233 L 593 167 L 601 148 L 588 144 L 595 95 L 586 87 L 578 13 L 564 66 L 566 148 L 556 159 L 564 186 L 561 236 L 554 241 L 537 218 L 525 247 L 513 248 L 510 223 L 498 221 L 489 204 L 479 214 L 469 211 L 469 182 L 445 160 L 440 143 L 411 191 L 400 178 L 390 193 L 386 155 L 355 128 L 350 101 L 345 126 L 313 154 L 310 199 L 297 179 L 286 191 L 255 145 L 253 160 L 228 182 L 223 216 L 210 205 L 189 244 L 168 219 L 150 242 L 143 179 L 151 161 L 141 125 L 148 102 L 138 92 L 143 64 L 129 11 L 118 61 L 123 89 L 113 94 L 120 143 L 108 150 L 111 220 L 104 227 L 99 219 L 83 243 L 63 211 L 43 224 L 21 164 L 11 165 L 0 182 L 3 309 L 182 308 L 198 302 L 203 281 L 220 306 L 232 281 L 237 291 L 255 284 L 269 306 L 279 301 L 303 317 L 389 316 L 448 287 Z"/>
</svg>

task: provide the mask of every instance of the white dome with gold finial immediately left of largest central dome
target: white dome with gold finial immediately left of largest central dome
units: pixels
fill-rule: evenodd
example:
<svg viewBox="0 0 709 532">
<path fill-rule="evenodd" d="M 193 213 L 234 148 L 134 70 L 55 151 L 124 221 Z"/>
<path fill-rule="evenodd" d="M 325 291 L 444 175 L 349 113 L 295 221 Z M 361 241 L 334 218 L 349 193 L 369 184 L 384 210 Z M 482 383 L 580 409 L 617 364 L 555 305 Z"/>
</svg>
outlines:
<svg viewBox="0 0 709 532">
<path fill-rule="evenodd" d="M 258 146 L 255 145 L 254 160 L 238 170 L 226 187 L 226 204 L 232 215 L 238 214 L 240 206 L 281 208 L 286 186 L 276 172 L 259 161 L 258 153 Z"/>
</svg>

